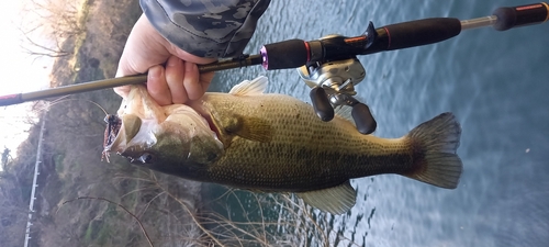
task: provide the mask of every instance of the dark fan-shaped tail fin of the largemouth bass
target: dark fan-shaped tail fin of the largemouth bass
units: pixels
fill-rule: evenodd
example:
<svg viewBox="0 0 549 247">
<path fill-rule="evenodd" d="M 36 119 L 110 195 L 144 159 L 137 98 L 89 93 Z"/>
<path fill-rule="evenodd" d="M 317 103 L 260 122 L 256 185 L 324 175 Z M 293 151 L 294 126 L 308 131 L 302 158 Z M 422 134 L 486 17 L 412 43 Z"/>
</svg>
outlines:
<svg viewBox="0 0 549 247">
<path fill-rule="evenodd" d="M 442 113 L 407 134 L 414 150 L 414 169 L 404 176 L 446 189 L 456 189 L 462 167 L 456 154 L 461 126 L 453 114 Z"/>
</svg>

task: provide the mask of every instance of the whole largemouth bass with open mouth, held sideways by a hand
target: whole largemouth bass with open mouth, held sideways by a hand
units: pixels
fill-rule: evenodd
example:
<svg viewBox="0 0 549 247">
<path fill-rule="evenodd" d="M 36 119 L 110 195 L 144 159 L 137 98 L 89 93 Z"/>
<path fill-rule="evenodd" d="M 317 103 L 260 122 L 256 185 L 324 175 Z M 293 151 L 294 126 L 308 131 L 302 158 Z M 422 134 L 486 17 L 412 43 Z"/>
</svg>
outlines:
<svg viewBox="0 0 549 247">
<path fill-rule="evenodd" d="M 396 173 L 455 189 L 461 175 L 456 154 L 461 127 L 451 113 L 401 138 L 380 138 L 360 134 L 339 115 L 323 122 L 292 97 L 264 93 L 265 77 L 243 81 L 229 93 L 209 92 L 189 105 L 160 106 L 145 87 L 132 87 L 105 151 L 164 173 L 293 192 L 333 214 L 355 205 L 354 178 Z"/>
</svg>

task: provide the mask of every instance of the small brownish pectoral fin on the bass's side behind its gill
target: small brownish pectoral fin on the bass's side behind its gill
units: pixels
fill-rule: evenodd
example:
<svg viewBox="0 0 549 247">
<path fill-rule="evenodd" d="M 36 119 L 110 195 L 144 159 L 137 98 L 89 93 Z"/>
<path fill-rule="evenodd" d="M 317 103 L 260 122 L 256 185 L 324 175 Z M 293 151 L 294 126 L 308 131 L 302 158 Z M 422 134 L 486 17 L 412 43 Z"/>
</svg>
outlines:
<svg viewBox="0 0 549 247">
<path fill-rule="evenodd" d="M 255 142 L 269 143 L 272 139 L 271 125 L 259 117 L 234 115 L 224 124 L 224 130 L 226 133 Z"/>
</svg>

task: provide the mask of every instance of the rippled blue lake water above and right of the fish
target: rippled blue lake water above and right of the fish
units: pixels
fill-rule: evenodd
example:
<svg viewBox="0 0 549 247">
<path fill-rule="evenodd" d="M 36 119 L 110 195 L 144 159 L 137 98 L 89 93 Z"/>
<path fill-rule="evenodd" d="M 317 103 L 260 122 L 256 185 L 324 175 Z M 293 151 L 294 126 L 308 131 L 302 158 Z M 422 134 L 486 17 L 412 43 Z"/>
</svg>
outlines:
<svg viewBox="0 0 549 247">
<path fill-rule="evenodd" d="M 273 42 L 357 36 L 424 18 L 490 15 L 520 0 L 273 1 L 247 53 Z M 357 204 L 332 227 L 359 246 L 549 246 L 549 23 L 506 32 L 464 31 L 449 41 L 359 59 L 357 87 L 378 121 L 399 137 L 442 112 L 462 125 L 464 171 L 456 190 L 399 176 L 356 179 Z M 212 90 L 257 75 L 270 92 L 309 100 L 293 69 L 220 72 Z M 346 244 L 347 245 L 347 244 Z"/>
</svg>

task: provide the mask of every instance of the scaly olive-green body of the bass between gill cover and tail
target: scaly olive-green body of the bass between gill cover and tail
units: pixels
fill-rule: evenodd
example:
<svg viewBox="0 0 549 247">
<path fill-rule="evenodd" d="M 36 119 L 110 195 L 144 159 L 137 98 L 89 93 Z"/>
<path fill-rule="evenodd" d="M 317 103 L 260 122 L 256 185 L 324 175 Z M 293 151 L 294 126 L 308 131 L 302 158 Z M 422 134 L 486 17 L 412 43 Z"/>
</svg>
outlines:
<svg viewBox="0 0 549 247">
<path fill-rule="evenodd" d="M 215 111 L 213 115 L 231 117 L 224 113 L 240 109 L 239 115 L 269 120 L 273 128 L 269 143 L 233 138 L 224 156 L 209 168 L 214 182 L 255 190 L 306 191 L 340 184 L 349 178 L 404 172 L 412 167 L 405 139 L 362 135 L 339 116 L 318 121 L 311 105 L 288 96 L 212 93 L 202 102 L 208 111 Z M 234 177 L 239 179 L 234 181 Z"/>
</svg>

